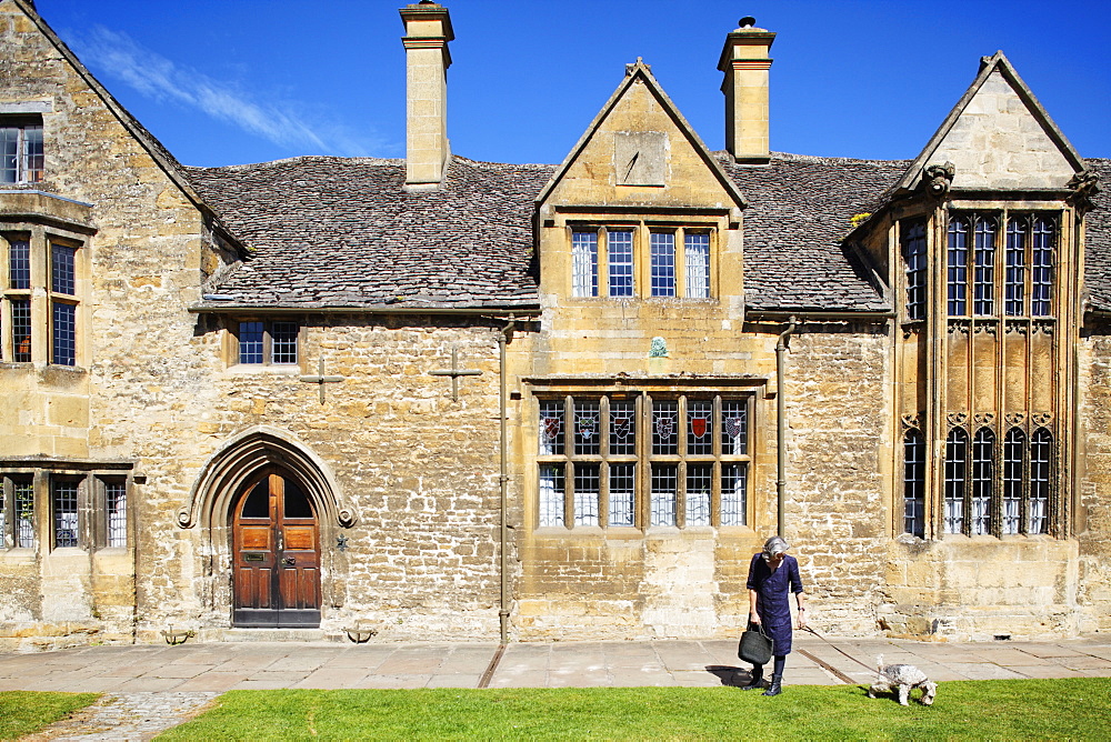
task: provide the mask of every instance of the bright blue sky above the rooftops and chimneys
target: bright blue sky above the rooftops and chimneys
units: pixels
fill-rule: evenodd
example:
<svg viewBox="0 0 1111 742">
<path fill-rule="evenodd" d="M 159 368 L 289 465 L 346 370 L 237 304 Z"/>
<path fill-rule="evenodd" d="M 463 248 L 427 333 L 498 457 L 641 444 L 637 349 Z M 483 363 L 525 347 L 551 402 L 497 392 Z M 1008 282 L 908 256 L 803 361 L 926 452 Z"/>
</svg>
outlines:
<svg viewBox="0 0 1111 742">
<path fill-rule="evenodd" d="M 179 160 L 404 157 L 404 50 L 389 0 L 38 0 Z M 452 151 L 560 162 L 637 57 L 723 147 L 725 33 L 772 47 L 777 151 L 912 158 L 1002 49 L 1084 157 L 1111 156 L 1111 3 L 447 0 Z"/>
</svg>

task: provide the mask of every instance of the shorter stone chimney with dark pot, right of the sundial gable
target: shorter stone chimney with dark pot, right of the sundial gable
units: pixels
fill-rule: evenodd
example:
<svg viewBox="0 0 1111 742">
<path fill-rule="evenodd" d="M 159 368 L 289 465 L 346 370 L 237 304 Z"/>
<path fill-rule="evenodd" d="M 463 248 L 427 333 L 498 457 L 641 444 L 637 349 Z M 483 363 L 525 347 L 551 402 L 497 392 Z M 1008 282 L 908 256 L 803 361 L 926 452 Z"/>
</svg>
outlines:
<svg viewBox="0 0 1111 742">
<path fill-rule="evenodd" d="M 755 19 L 741 19 L 741 27 L 725 37 L 718 69 L 725 73 L 725 149 L 737 162 L 767 163 L 768 52 L 775 34 L 755 28 Z"/>
</svg>

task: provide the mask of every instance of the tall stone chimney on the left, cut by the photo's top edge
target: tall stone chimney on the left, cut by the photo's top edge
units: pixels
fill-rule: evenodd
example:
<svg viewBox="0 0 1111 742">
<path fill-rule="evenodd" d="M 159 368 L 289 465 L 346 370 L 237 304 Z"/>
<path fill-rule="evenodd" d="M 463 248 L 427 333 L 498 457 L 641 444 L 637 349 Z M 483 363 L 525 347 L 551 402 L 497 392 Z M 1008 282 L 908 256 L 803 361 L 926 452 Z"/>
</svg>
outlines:
<svg viewBox="0 0 1111 742">
<path fill-rule="evenodd" d="M 401 9 L 406 36 L 406 188 L 434 190 L 451 158 L 448 144 L 448 9 L 421 0 Z"/>
</svg>

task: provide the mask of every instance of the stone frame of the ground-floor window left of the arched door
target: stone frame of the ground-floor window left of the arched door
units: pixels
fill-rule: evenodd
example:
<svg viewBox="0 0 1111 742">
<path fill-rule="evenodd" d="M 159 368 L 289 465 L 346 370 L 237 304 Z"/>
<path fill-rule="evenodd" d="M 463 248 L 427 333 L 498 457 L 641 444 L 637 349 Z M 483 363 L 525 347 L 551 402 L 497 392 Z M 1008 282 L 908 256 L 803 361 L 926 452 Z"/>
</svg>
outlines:
<svg viewBox="0 0 1111 742">
<path fill-rule="evenodd" d="M 30 482 L 32 491 L 31 543 L 17 542 L 18 519 L 14 514 L 16 484 Z M 58 545 L 56 530 L 54 493 L 59 482 L 77 484 L 76 545 Z M 109 511 L 107 507 L 108 482 L 123 485 L 124 499 L 124 543 L 110 542 Z M 0 519 L 0 551 L 14 554 L 38 554 L 59 549 L 80 551 L 126 550 L 134 544 L 134 497 L 133 484 L 138 483 L 130 462 L 90 463 L 53 461 L 23 465 L 19 461 L 0 462 L 0 499 L 4 517 Z"/>
</svg>

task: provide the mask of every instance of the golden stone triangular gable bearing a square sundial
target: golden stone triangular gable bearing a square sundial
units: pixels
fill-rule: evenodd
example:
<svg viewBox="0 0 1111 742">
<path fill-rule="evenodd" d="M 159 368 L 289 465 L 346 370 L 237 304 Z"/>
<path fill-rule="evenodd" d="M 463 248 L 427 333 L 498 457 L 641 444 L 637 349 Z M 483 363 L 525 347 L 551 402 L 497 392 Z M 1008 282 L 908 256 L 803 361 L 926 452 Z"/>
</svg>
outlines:
<svg viewBox="0 0 1111 742">
<path fill-rule="evenodd" d="M 537 198 L 654 209 L 743 208 L 744 198 L 642 61 Z"/>
</svg>

